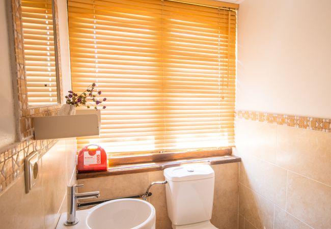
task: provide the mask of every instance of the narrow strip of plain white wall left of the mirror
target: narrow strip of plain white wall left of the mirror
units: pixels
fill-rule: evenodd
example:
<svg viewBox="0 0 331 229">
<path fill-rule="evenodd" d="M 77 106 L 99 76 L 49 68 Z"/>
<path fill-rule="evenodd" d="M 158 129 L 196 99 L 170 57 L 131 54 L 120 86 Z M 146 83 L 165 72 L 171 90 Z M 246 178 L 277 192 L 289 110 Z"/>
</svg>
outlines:
<svg viewBox="0 0 331 229">
<path fill-rule="evenodd" d="M 15 113 L 13 104 L 12 72 L 7 27 L 6 1 L 0 1 L 0 98 L 2 103 L 0 116 L 0 148 L 15 141 Z M 12 32 L 12 31 L 10 31 Z"/>
</svg>

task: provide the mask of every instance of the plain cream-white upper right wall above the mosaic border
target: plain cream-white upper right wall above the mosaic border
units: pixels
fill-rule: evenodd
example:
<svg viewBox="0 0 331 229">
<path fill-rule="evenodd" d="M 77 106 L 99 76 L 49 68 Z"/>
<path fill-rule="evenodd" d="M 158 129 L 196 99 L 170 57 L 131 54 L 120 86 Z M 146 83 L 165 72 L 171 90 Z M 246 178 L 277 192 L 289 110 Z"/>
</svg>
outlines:
<svg viewBox="0 0 331 229">
<path fill-rule="evenodd" d="M 331 1 L 245 0 L 237 109 L 331 118 Z"/>
</svg>

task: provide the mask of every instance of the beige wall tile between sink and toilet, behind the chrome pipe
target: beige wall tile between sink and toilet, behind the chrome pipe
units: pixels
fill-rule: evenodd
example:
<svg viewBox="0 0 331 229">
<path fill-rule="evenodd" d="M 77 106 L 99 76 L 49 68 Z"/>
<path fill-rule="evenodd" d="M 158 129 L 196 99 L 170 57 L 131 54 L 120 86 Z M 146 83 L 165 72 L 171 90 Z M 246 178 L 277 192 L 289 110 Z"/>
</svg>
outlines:
<svg viewBox="0 0 331 229">
<path fill-rule="evenodd" d="M 154 181 L 164 181 L 163 171 L 153 171 L 149 173 L 149 183 Z M 156 228 L 171 228 L 171 220 L 168 217 L 166 185 L 154 185 L 150 192 L 153 194 L 149 197 L 149 202 L 154 206 L 156 211 Z"/>
</svg>

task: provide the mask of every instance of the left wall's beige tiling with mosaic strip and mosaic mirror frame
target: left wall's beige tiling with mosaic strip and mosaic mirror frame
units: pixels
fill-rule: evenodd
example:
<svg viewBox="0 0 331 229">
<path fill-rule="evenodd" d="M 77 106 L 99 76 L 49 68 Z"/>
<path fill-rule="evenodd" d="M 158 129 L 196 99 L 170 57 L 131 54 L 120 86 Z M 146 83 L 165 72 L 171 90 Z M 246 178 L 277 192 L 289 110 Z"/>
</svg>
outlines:
<svg viewBox="0 0 331 229">
<path fill-rule="evenodd" d="M 27 104 L 20 4 L 20 0 L 12 0 L 13 24 L 9 20 L 8 25 L 14 27 L 17 67 L 14 86 L 17 86 L 17 90 L 12 102 L 17 103 L 19 137 L 15 144 L 0 149 L 0 228 L 54 228 L 60 213 L 67 210 L 66 187 L 75 182 L 76 140 L 33 139 L 32 117 L 56 115 L 60 105 L 31 108 Z M 59 43 L 59 37 L 57 39 Z M 60 58 L 60 52 L 58 55 Z M 58 65 L 61 69 L 61 59 Z M 62 86 L 60 71 L 60 100 L 63 97 Z M 33 151 L 39 153 L 40 174 L 37 184 L 26 194 L 24 158 Z"/>
</svg>

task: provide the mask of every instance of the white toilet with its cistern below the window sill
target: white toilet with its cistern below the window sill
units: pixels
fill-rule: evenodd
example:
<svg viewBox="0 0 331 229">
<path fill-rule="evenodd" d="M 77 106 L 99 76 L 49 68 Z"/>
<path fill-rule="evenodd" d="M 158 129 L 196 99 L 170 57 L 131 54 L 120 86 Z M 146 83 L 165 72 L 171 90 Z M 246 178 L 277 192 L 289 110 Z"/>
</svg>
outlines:
<svg viewBox="0 0 331 229">
<path fill-rule="evenodd" d="M 164 169 L 168 216 L 174 229 L 215 229 L 211 224 L 214 170 L 207 164 Z"/>
</svg>

